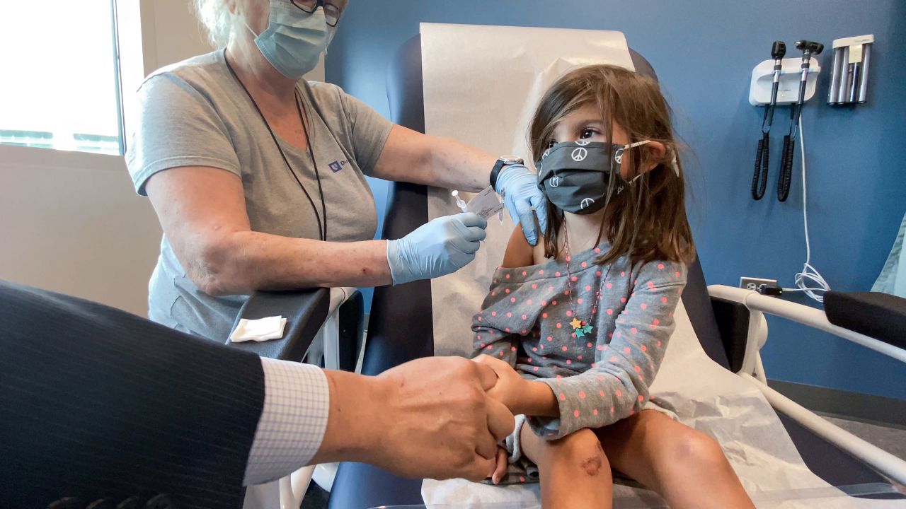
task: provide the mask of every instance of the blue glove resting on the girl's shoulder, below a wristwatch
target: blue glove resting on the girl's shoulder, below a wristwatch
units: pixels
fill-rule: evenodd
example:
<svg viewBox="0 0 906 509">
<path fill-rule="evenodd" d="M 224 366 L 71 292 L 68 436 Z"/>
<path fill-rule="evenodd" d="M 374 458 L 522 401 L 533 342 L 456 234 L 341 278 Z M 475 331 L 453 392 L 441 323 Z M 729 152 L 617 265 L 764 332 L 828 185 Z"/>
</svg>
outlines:
<svg viewBox="0 0 906 509">
<path fill-rule="evenodd" d="M 545 208 L 545 195 L 538 188 L 538 176 L 535 172 L 521 164 L 508 166 L 500 171 L 497 176 L 497 193 L 504 197 L 506 212 L 513 218 L 513 223 L 522 225 L 522 233 L 530 245 L 538 244 L 538 234 L 535 231 L 535 218 L 532 217 L 532 207 L 535 207 L 535 216 L 538 217 L 538 226 L 541 232 L 547 227 L 547 209 Z"/>
</svg>

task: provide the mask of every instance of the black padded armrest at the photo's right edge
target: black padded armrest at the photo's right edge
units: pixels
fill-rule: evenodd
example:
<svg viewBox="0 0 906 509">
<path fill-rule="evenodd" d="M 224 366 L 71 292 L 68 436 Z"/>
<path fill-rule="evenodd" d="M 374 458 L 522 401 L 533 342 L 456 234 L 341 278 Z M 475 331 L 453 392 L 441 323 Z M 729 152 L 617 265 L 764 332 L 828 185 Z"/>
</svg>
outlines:
<svg viewBox="0 0 906 509">
<path fill-rule="evenodd" d="M 880 292 L 828 292 L 824 314 L 843 329 L 906 348 L 906 299 Z"/>
</svg>

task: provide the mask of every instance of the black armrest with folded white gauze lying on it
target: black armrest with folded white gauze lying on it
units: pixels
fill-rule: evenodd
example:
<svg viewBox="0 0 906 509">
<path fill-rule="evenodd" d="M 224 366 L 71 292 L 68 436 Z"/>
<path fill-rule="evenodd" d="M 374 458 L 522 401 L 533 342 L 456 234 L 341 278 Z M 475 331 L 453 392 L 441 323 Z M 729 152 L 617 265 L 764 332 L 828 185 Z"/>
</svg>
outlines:
<svg viewBox="0 0 906 509">
<path fill-rule="evenodd" d="M 314 336 L 321 329 L 330 308 L 331 291 L 329 288 L 294 290 L 291 292 L 255 292 L 248 298 L 236 322 L 239 320 L 257 320 L 267 316 L 281 315 L 286 319 L 284 337 L 270 341 L 245 341 L 234 343 L 226 340 L 226 345 L 239 350 L 251 351 L 260 357 L 279 360 L 302 360 Z"/>
</svg>

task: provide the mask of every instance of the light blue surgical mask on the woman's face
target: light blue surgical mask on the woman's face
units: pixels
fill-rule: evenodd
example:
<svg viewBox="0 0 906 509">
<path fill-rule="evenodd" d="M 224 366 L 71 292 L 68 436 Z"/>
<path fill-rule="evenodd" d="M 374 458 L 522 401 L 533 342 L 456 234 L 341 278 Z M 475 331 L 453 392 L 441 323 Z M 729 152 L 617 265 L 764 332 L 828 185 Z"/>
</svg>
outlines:
<svg viewBox="0 0 906 509">
<path fill-rule="evenodd" d="M 271 0 L 270 15 L 270 24 L 255 36 L 255 45 L 277 72 L 298 80 L 327 52 L 335 29 L 328 26 L 323 7 L 308 14 L 289 0 Z"/>
</svg>

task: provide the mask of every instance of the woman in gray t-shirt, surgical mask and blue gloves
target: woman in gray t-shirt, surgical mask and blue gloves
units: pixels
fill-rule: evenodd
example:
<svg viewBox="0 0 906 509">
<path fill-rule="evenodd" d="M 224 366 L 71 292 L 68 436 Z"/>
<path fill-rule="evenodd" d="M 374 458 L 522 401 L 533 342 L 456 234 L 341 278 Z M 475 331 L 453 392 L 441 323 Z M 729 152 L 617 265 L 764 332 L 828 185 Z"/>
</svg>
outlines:
<svg viewBox="0 0 906 509">
<path fill-rule="evenodd" d="M 152 320 L 223 341 L 257 289 L 407 283 L 474 258 L 487 226 L 474 214 L 371 240 L 366 175 L 466 191 L 490 175 L 536 238 L 531 208 L 543 197 L 525 166 L 393 125 L 339 87 L 300 80 L 346 3 L 196 0 L 222 49 L 141 85 L 127 162 L 164 231 Z M 538 220 L 543 229 L 546 217 Z"/>
</svg>

